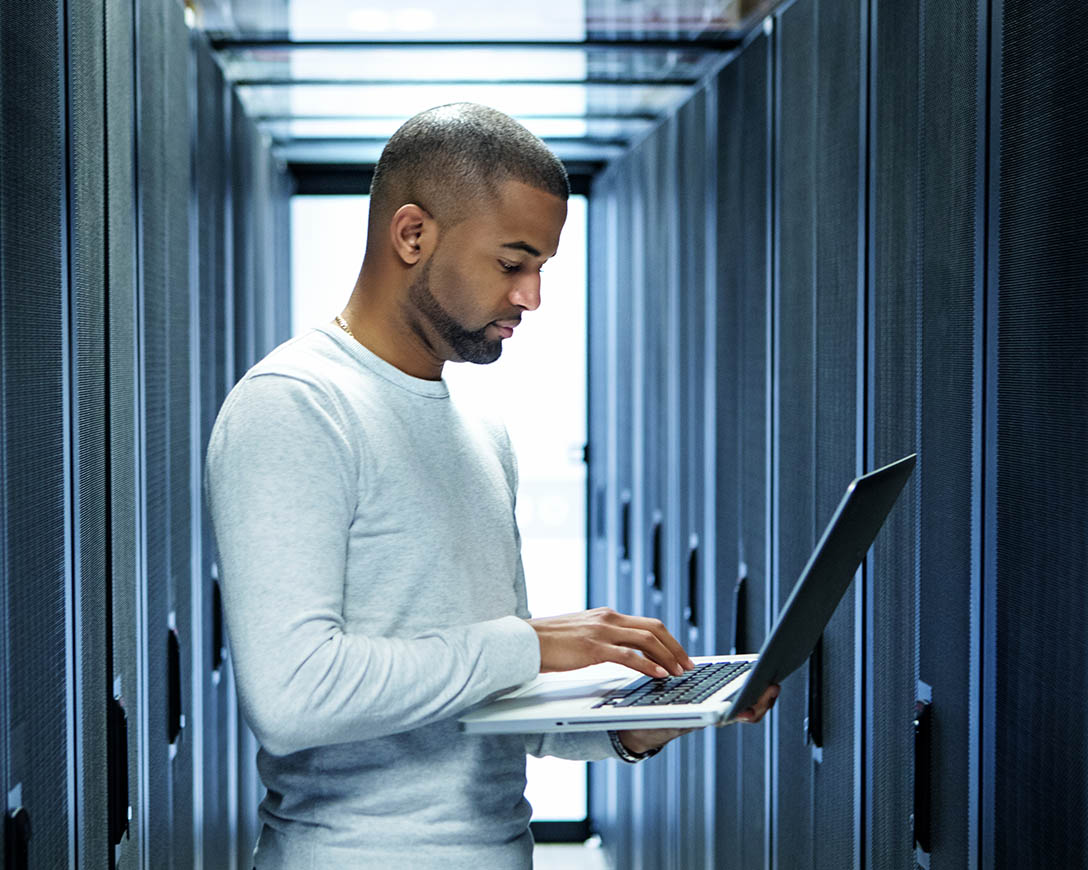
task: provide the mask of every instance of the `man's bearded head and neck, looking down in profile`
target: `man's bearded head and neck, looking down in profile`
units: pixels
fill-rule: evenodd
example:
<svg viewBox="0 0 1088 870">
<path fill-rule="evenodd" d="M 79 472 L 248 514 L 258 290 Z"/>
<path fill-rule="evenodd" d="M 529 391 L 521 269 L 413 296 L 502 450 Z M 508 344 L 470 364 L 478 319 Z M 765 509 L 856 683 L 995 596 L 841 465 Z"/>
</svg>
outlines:
<svg viewBox="0 0 1088 870">
<path fill-rule="evenodd" d="M 363 343 L 423 377 L 497 359 L 540 304 L 568 196 L 559 160 L 502 112 L 457 103 L 408 121 L 371 185 Z"/>
</svg>

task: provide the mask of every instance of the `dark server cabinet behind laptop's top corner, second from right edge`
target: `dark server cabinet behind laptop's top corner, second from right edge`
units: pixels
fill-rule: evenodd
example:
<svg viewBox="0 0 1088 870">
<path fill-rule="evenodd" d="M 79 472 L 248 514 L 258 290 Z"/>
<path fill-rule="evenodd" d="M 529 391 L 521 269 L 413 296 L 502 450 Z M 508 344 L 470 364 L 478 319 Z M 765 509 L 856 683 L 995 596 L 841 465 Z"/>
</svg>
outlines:
<svg viewBox="0 0 1088 870">
<path fill-rule="evenodd" d="M 976 860 L 985 8 L 871 22 L 866 465 L 919 453 L 867 575 L 869 861 Z"/>
</svg>

